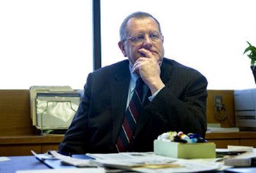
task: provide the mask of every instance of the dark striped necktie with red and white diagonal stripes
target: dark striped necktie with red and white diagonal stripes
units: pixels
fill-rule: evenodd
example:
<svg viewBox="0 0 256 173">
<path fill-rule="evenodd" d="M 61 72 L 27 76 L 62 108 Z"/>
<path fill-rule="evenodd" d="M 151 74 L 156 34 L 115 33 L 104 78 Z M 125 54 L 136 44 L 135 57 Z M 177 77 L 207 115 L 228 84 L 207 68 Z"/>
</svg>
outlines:
<svg viewBox="0 0 256 173">
<path fill-rule="evenodd" d="M 138 116 L 142 110 L 143 84 L 144 82 L 141 78 L 137 79 L 131 102 L 125 112 L 118 139 L 116 140 L 116 149 L 118 152 L 128 151 L 129 145 L 132 142 L 132 135 L 138 121 Z"/>
</svg>

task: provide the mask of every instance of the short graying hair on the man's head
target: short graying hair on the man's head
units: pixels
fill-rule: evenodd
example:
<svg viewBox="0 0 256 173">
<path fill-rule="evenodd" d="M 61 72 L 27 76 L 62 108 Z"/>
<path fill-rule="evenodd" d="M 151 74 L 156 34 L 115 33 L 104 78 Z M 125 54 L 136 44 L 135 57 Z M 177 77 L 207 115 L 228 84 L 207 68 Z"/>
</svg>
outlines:
<svg viewBox="0 0 256 173">
<path fill-rule="evenodd" d="M 124 19 L 124 21 L 122 22 L 122 24 L 120 26 L 120 30 L 119 30 L 120 41 L 124 41 L 127 38 L 126 26 L 127 26 L 128 20 L 130 20 L 131 18 L 143 19 L 145 17 L 151 17 L 152 19 L 154 19 L 157 22 L 159 32 L 161 33 L 160 24 L 159 24 L 158 20 L 155 17 L 150 15 L 150 13 L 145 13 L 145 12 L 142 12 L 142 11 L 137 11 L 137 12 L 131 13 L 131 15 L 127 16 Z"/>
</svg>

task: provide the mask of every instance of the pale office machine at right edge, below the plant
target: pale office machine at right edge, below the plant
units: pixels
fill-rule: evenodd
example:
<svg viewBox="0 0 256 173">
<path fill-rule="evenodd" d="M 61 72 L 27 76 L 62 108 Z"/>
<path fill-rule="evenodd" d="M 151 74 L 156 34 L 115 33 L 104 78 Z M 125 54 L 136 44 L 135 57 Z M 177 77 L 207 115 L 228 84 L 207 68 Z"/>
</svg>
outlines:
<svg viewBox="0 0 256 173">
<path fill-rule="evenodd" d="M 234 90 L 236 126 L 256 130 L 256 89 Z"/>
</svg>

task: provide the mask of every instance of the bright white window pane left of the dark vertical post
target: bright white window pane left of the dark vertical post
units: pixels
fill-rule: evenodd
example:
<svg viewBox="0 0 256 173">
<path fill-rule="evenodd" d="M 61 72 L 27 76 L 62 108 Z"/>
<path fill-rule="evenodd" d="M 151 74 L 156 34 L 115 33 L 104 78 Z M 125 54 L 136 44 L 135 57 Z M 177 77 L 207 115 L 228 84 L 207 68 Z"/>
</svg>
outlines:
<svg viewBox="0 0 256 173">
<path fill-rule="evenodd" d="M 1 0 L 0 59 L 0 89 L 82 89 L 92 71 L 92 2 Z"/>
</svg>

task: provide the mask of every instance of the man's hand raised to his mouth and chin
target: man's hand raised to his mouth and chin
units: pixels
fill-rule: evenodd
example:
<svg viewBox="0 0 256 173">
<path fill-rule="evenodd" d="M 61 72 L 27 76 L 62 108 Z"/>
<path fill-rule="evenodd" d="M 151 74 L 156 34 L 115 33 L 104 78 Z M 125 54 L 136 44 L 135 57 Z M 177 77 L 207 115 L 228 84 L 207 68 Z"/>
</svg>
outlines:
<svg viewBox="0 0 256 173">
<path fill-rule="evenodd" d="M 164 84 L 160 78 L 160 65 L 161 61 L 157 61 L 158 54 L 156 52 L 151 52 L 147 49 L 139 50 L 141 57 L 132 66 L 132 73 L 138 73 L 150 88 L 152 94 L 156 93 L 158 89 L 164 87 Z"/>
</svg>

